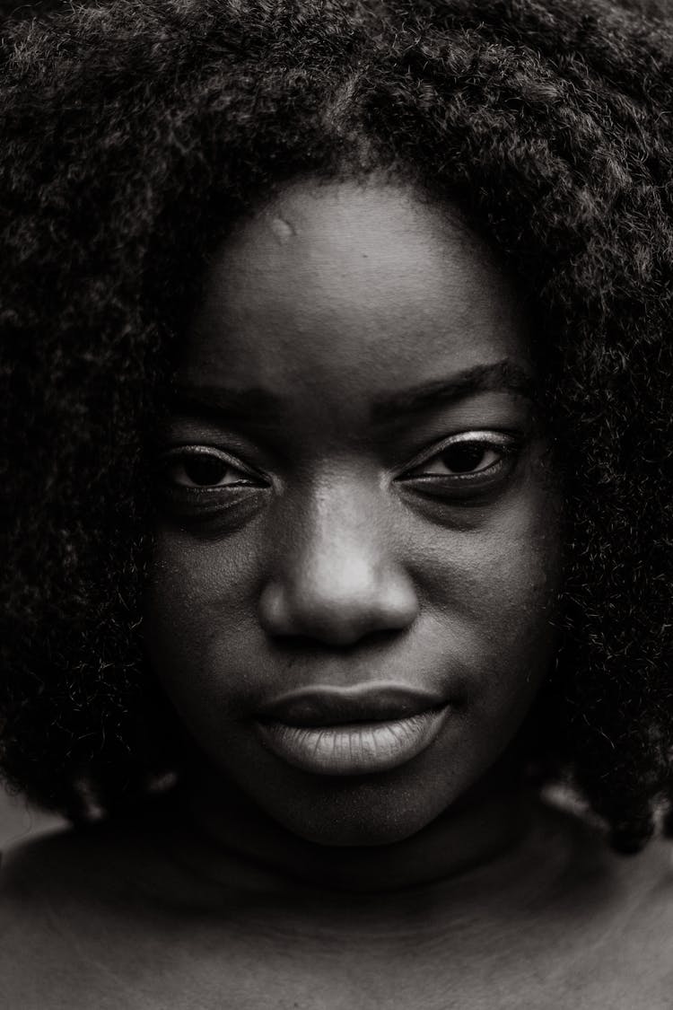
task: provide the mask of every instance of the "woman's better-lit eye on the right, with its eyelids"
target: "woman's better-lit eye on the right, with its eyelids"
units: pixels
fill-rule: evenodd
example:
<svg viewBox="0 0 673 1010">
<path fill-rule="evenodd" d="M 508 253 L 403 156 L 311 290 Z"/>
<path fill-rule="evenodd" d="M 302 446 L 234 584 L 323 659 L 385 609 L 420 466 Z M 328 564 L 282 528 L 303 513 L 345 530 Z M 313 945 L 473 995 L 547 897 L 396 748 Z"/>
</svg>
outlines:
<svg viewBox="0 0 673 1010">
<path fill-rule="evenodd" d="M 453 435 L 432 456 L 404 475 L 423 490 L 465 496 L 498 484 L 512 472 L 520 442 L 502 431 L 464 431 Z"/>
</svg>

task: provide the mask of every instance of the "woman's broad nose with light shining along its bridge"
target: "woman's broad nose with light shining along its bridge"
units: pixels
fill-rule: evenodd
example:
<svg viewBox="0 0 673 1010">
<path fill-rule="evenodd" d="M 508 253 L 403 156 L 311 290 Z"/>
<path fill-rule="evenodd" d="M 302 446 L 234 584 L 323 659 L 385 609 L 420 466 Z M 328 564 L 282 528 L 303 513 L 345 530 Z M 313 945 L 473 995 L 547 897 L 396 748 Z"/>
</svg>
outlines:
<svg viewBox="0 0 673 1010">
<path fill-rule="evenodd" d="M 268 634 L 344 647 L 414 622 L 419 601 L 413 581 L 389 523 L 367 496 L 352 488 L 323 489 L 283 526 L 259 599 Z"/>
</svg>

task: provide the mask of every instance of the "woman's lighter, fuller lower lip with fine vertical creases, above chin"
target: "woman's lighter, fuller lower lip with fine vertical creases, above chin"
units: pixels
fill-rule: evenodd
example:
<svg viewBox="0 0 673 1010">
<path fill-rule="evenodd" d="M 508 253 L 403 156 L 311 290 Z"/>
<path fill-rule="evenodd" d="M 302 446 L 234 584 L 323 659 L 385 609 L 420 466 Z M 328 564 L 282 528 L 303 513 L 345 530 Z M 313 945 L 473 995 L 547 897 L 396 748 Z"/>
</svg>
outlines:
<svg viewBox="0 0 673 1010">
<path fill-rule="evenodd" d="M 373 775 L 416 758 L 435 739 L 447 706 L 406 719 L 337 726 L 258 722 L 264 745 L 277 758 L 314 775 Z"/>
</svg>

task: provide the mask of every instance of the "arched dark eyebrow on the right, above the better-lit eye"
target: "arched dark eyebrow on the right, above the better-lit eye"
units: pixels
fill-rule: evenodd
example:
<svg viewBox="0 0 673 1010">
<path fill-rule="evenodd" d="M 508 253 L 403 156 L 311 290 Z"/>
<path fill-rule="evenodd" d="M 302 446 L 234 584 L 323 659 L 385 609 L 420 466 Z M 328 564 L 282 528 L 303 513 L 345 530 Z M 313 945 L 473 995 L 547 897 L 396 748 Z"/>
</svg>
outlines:
<svg viewBox="0 0 673 1010">
<path fill-rule="evenodd" d="M 529 400 L 535 399 L 533 377 L 509 359 L 503 359 L 490 365 L 476 365 L 447 380 L 385 396 L 374 404 L 372 417 L 378 422 L 388 421 L 401 414 L 423 413 L 487 392 L 515 393 Z"/>
</svg>

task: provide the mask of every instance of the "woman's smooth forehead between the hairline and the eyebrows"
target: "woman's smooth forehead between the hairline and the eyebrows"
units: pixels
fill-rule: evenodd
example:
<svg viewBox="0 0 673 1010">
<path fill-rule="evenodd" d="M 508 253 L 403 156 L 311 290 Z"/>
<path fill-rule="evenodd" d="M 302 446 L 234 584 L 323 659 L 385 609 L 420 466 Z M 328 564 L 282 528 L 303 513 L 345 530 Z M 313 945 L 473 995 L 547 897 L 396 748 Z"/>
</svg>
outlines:
<svg viewBox="0 0 673 1010">
<path fill-rule="evenodd" d="M 512 284 L 455 209 L 403 184 L 305 180 L 217 250 L 181 377 L 376 397 L 526 363 L 524 334 Z"/>
</svg>

